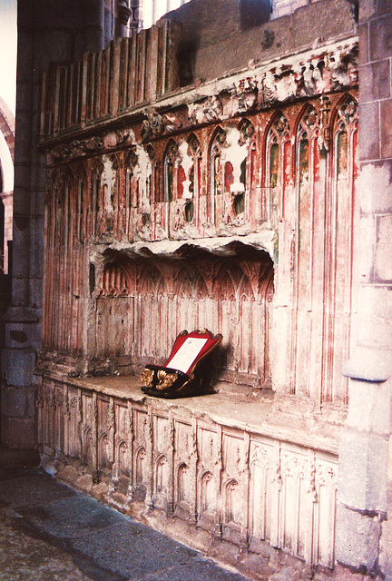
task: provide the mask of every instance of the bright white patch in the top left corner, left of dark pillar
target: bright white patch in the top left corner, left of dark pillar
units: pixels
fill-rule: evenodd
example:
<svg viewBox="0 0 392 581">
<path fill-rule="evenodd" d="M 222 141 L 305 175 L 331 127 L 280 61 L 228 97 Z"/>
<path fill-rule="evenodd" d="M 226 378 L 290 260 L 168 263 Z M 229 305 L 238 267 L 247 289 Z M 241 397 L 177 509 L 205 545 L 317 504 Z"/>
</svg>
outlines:
<svg viewBox="0 0 392 581">
<path fill-rule="evenodd" d="M 15 114 L 16 0 L 0 0 L 0 96 Z"/>
</svg>

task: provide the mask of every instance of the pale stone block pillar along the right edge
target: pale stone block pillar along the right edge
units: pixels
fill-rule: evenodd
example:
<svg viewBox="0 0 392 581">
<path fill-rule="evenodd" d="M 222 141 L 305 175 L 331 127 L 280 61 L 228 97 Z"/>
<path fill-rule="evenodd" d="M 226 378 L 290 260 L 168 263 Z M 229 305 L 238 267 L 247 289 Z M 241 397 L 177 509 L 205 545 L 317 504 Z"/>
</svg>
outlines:
<svg viewBox="0 0 392 581">
<path fill-rule="evenodd" d="M 339 442 L 336 578 L 392 578 L 392 5 L 359 3 L 357 347 Z M 351 571 L 351 574 L 348 572 Z"/>
</svg>

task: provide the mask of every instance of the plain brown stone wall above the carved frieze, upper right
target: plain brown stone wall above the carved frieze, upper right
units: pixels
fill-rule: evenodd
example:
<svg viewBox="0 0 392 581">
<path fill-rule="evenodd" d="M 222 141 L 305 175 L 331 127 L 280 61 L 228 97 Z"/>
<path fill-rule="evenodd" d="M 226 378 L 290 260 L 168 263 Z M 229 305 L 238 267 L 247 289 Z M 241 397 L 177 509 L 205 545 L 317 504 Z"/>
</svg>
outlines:
<svg viewBox="0 0 392 581">
<path fill-rule="evenodd" d="M 258 4 L 267 5 L 268 12 L 269 3 Z M 295 54 L 322 44 L 321 39 L 343 40 L 357 34 L 352 5 L 345 0 L 296 2 L 282 8 L 279 16 L 241 27 L 239 0 L 191 0 L 165 15 L 182 25 L 181 84 L 220 78 L 229 71 Z"/>
</svg>

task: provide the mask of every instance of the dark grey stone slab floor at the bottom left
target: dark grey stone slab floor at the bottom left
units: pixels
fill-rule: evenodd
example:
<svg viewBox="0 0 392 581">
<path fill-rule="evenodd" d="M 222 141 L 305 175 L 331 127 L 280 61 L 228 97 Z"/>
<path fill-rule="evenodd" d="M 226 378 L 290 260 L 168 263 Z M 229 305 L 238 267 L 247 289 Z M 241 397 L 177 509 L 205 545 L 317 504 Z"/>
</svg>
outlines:
<svg viewBox="0 0 392 581">
<path fill-rule="evenodd" d="M 245 581 L 39 469 L 0 468 L 0 579 Z"/>
</svg>

